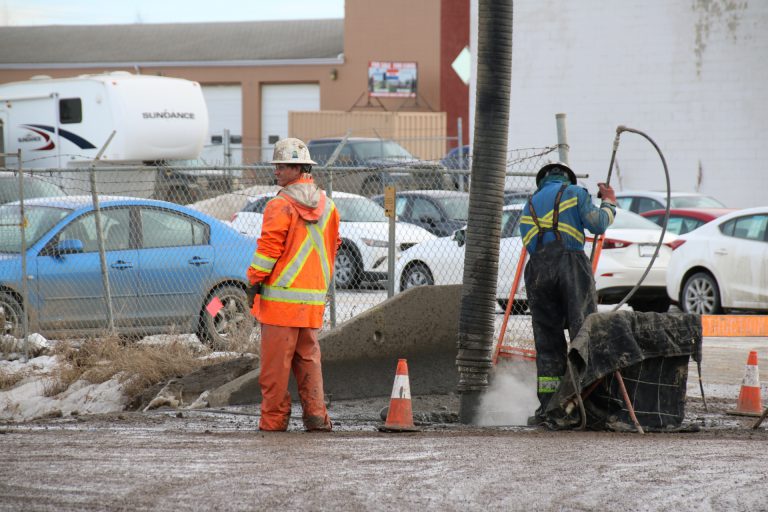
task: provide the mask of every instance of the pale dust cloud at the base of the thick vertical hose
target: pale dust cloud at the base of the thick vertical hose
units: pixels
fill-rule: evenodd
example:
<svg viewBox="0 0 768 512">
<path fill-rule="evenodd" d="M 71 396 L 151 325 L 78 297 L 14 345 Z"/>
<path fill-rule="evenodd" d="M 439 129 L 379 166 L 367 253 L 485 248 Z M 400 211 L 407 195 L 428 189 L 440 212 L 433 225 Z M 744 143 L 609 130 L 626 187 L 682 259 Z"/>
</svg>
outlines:
<svg viewBox="0 0 768 512">
<path fill-rule="evenodd" d="M 535 364 L 500 364 L 480 401 L 476 423 L 481 426 L 525 425 L 538 406 Z"/>
</svg>

